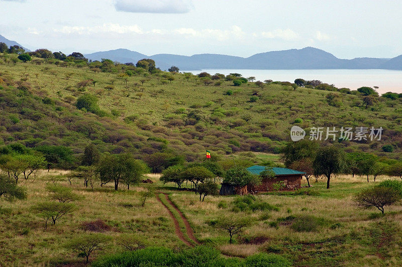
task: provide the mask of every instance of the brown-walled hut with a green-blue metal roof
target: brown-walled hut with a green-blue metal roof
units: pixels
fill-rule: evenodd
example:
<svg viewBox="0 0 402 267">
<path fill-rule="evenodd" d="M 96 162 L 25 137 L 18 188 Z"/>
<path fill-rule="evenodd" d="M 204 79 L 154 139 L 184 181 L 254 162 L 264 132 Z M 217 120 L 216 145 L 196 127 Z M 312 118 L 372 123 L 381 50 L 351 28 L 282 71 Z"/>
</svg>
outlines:
<svg viewBox="0 0 402 267">
<path fill-rule="evenodd" d="M 264 171 L 266 166 L 254 165 L 248 167 L 247 170 L 252 174 L 259 175 L 262 171 Z M 295 190 L 300 188 L 302 185 L 302 176 L 305 174 L 302 171 L 296 171 L 287 168 L 278 168 L 273 167 L 272 171 L 275 173 L 275 177 L 272 178 L 264 178 L 261 181 L 261 184 L 257 186 L 248 185 L 247 189 L 251 192 L 266 192 L 273 190 L 273 184 L 276 182 L 283 181 L 285 187 L 283 190 Z"/>
</svg>

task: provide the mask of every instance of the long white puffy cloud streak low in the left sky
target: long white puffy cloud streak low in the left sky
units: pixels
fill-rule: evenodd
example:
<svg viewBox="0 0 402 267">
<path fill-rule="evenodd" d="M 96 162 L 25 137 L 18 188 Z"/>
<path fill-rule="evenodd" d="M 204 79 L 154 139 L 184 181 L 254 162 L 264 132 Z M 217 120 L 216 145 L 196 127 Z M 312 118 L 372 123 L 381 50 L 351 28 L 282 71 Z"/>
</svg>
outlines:
<svg viewBox="0 0 402 267">
<path fill-rule="evenodd" d="M 54 32 L 63 34 L 98 34 L 98 33 L 117 33 L 117 34 L 143 34 L 143 31 L 138 25 L 119 25 L 119 24 L 104 24 L 102 26 L 64 26 L 61 29 L 53 29 Z"/>
</svg>

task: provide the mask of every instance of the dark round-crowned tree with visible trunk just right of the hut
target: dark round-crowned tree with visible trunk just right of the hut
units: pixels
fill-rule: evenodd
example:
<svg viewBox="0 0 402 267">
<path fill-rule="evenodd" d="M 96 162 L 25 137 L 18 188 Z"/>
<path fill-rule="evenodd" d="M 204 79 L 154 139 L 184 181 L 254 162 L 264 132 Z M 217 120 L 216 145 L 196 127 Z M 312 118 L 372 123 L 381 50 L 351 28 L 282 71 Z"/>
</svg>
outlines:
<svg viewBox="0 0 402 267">
<path fill-rule="evenodd" d="M 314 173 L 327 176 L 327 189 L 329 189 L 331 175 L 341 172 L 344 164 L 345 155 L 341 149 L 333 145 L 321 147 L 313 162 Z"/>
</svg>

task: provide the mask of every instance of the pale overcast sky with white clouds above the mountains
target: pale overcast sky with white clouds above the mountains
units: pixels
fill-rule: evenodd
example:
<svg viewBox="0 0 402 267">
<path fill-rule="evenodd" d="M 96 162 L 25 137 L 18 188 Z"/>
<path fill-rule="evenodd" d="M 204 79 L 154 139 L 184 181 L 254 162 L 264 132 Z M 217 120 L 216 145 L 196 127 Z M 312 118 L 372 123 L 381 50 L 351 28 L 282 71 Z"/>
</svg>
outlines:
<svg viewBox="0 0 402 267">
<path fill-rule="evenodd" d="M 402 54 L 401 10 L 400 0 L 0 0 L 0 35 L 65 53 L 249 57 L 312 46 L 392 58 Z"/>
</svg>

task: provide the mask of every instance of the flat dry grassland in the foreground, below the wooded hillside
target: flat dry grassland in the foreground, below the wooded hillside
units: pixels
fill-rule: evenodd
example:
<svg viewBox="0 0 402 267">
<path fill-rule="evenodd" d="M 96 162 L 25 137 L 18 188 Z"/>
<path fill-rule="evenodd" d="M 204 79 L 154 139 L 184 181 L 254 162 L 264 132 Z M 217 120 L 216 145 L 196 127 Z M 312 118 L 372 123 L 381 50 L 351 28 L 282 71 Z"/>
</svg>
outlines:
<svg viewBox="0 0 402 267">
<path fill-rule="evenodd" d="M 59 170 L 41 172 L 35 179 L 21 182 L 28 190 L 27 200 L 1 202 L 2 265 L 82 265 L 85 259 L 66 247 L 66 243 L 91 232 L 100 232 L 111 240 L 108 247 L 94 251 L 90 261 L 126 251 L 119 241 L 127 235 L 145 247 L 185 249 L 186 244 L 175 234 L 172 218 L 156 199 L 157 193 L 141 206 L 141 192 L 149 188 L 168 193 L 188 219 L 199 243 L 219 249 L 225 257 L 241 261 L 264 252 L 281 255 L 295 266 L 395 266 L 402 263 L 400 205 L 387 207 L 385 215 L 381 216 L 376 209 L 356 209 L 351 200 L 356 192 L 378 184 L 388 178 L 385 176 L 377 177 L 377 181 L 370 184 L 364 177 L 338 176 L 333 178 L 330 190 L 325 189 L 325 180 L 318 179 L 318 182 L 312 181 L 313 187 L 302 188 L 297 194 L 259 194 L 253 201 L 269 206 L 265 210 L 251 210 L 236 204 L 236 199 L 244 196 L 207 196 L 200 202 L 194 192 L 163 185 L 158 176 L 151 177 L 153 184 L 142 183 L 130 190 L 115 191 L 112 185 L 96 185 L 93 190 L 85 188 L 79 179 L 72 180 L 70 185 L 66 174 Z M 31 208 L 49 198 L 45 188 L 53 183 L 72 188 L 81 199 L 74 201 L 72 213 L 45 230 L 44 221 Z M 235 235 L 233 244 L 229 244 L 228 233 L 214 226 L 214 220 L 222 216 L 246 216 L 252 224 Z M 178 220 L 186 236 L 183 222 L 179 217 Z"/>
</svg>

